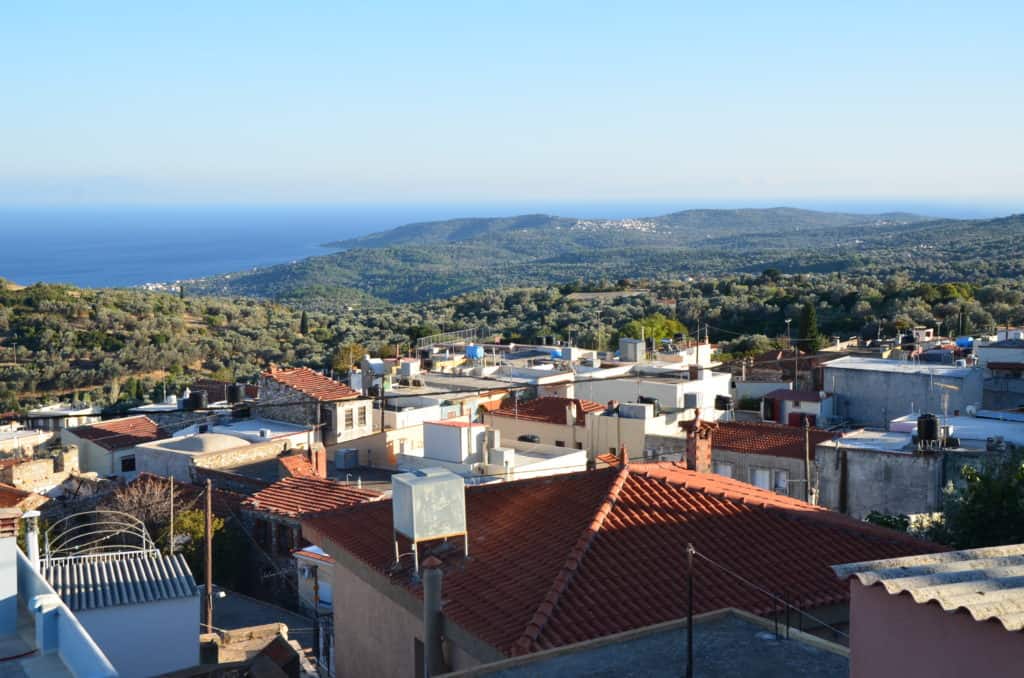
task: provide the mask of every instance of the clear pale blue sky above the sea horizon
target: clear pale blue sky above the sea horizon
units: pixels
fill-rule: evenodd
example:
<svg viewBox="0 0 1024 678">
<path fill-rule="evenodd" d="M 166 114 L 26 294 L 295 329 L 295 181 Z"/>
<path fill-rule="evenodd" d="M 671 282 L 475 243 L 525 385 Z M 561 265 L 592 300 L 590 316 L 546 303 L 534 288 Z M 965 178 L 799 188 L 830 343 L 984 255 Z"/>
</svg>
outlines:
<svg viewBox="0 0 1024 678">
<path fill-rule="evenodd" d="M 0 3 L 0 204 L 1024 203 L 1019 2 Z"/>
</svg>

